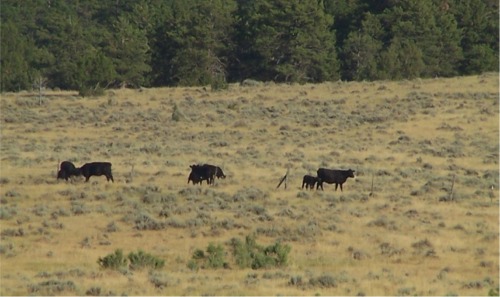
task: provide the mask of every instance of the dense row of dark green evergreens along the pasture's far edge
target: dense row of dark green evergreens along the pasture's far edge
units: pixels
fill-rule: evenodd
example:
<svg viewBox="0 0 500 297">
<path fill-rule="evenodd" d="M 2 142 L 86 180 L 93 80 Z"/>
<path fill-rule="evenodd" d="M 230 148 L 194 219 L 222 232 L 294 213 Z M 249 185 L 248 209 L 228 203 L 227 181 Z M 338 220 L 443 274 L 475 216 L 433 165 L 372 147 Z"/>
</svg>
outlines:
<svg viewBox="0 0 500 297">
<path fill-rule="evenodd" d="M 3 0 L 1 91 L 498 71 L 497 0 Z"/>
</svg>

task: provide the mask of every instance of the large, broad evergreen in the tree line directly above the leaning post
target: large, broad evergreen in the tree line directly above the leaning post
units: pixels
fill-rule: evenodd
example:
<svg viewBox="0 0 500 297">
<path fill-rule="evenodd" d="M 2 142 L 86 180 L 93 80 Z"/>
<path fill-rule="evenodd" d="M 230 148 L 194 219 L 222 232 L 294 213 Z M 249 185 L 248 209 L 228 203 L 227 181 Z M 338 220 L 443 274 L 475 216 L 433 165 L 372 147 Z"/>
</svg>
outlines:
<svg viewBox="0 0 500 297">
<path fill-rule="evenodd" d="M 339 77 L 335 33 L 330 31 L 333 19 L 318 2 L 257 0 L 239 4 L 238 27 L 248 30 L 239 40 L 240 62 L 258 65 L 257 71 L 248 74 L 278 82 Z M 242 48 L 246 45 L 248 48 Z M 245 57 L 251 60 L 245 61 Z"/>
</svg>

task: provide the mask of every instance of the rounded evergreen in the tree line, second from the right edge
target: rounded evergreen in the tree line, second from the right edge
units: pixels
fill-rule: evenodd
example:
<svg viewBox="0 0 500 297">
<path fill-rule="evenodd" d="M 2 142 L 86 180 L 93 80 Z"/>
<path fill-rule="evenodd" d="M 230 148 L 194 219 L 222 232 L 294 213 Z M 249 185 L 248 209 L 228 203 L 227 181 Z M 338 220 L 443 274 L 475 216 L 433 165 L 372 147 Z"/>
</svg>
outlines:
<svg viewBox="0 0 500 297">
<path fill-rule="evenodd" d="M 420 69 L 418 61 L 403 62 L 400 65 L 405 67 L 394 71 L 388 69 L 386 73 L 399 73 L 403 78 L 415 75 L 450 76 L 457 73 L 457 62 L 462 57 L 459 31 L 451 15 L 442 14 L 446 12 L 441 11 L 432 0 L 401 0 L 384 11 L 383 22 L 393 39 L 386 57 L 397 56 L 403 59 L 400 62 L 407 57 L 421 57 L 425 66 Z M 418 68 L 407 68 L 412 65 Z"/>
</svg>

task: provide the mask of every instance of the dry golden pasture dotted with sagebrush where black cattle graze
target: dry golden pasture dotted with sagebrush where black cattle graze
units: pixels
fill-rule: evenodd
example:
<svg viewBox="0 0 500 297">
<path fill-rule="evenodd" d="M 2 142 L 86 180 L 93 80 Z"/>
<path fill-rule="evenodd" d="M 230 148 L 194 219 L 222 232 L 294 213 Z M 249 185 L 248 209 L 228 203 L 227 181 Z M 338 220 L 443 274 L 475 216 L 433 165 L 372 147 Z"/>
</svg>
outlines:
<svg viewBox="0 0 500 297">
<path fill-rule="evenodd" d="M 498 82 L 2 94 L 0 295 L 498 295 Z M 227 178 L 188 185 L 196 163 Z M 319 167 L 357 177 L 302 190 Z M 246 238 L 287 261 L 240 266 Z M 98 263 L 118 250 L 164 265 Z"/>
</svg>

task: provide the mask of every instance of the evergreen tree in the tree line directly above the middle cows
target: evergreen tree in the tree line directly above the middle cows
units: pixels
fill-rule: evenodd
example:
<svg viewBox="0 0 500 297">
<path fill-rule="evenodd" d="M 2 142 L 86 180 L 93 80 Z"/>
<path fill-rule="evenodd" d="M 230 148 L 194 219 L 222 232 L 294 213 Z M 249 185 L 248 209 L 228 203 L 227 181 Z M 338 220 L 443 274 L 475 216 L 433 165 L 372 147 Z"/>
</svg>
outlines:
<svg viewBox="0 0 500 297">
<path fill-rule="evenodd" d="M 226 80 L 232 0 L 173 0 L 156 29 L 155 84 L 207 85 Z"/>
</svg>

